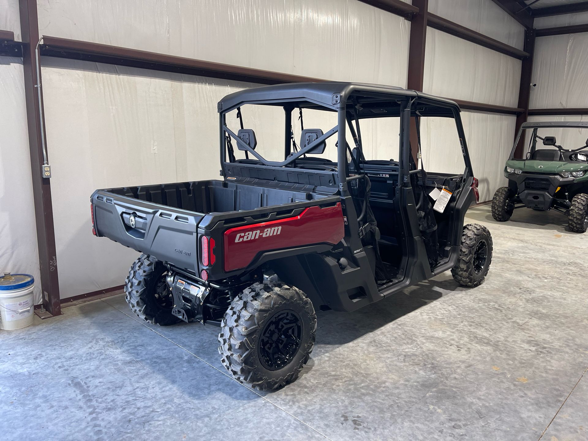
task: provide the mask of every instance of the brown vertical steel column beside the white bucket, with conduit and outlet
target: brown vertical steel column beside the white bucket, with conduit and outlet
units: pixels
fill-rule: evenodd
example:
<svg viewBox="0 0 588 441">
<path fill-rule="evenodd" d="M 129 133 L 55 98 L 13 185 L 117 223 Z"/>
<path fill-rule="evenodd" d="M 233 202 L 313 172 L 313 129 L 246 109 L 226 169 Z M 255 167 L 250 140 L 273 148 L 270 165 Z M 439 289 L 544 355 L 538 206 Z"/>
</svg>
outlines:
<svg viewBox="0 0 588 441">
<path fill-rule="evenodd" d="M 42 178 L 43 149 L 41 140 L 41 116 L 37 98 L 35 46 L 39 41 L 36 0 L 19 0 L 22 31 L 22 64 L 24 70 L 26 119 L 28 122 L 29 150 L 31 152 L 31 174 L 39 266 L 41 268 L 41 292 L 43 305 L 52 315 L 61 314 L 59 303 L 59 281 L 57 277 L 57 253 L 51 201 L 51 180 Z M 42 109 L 42 102 L 41 102 Z"/>
</svg>

